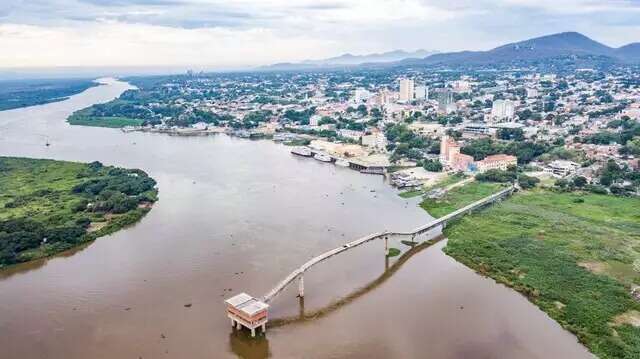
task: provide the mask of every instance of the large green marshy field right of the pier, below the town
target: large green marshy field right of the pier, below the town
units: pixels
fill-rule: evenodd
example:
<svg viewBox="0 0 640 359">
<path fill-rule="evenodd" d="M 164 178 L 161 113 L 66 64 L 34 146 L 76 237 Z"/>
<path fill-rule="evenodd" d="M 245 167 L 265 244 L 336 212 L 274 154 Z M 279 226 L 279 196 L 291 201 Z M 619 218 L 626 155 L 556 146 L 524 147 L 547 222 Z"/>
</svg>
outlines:
<svg viewBox="0 0 640 359">
<path fill-rule="evenodd" d="M 640 357 L 637 198 L 526 191 L 445 235 L 447 254 L 526 295 L 594 354 Z"/>
</svg>

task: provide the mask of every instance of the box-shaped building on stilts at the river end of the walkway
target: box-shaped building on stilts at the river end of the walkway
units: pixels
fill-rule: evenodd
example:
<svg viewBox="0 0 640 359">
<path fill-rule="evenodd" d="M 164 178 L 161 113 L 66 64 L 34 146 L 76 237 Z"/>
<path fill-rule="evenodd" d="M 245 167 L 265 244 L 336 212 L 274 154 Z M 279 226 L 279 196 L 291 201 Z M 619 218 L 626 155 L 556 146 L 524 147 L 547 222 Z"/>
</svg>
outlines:
<svg viewBox="0 0 640 359">
<path fill-rule="evenodd" d="M 269 320 L 269 305 L 247 293 L 240 293 L 224 301 L 227 304 L 227 317 L 231 319 L 231 326 L 251 329 L 251 336 L 256 336 L 256 328 L 261 327 L 262 333 L 266 331 Z"/>
</svg>

